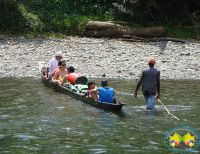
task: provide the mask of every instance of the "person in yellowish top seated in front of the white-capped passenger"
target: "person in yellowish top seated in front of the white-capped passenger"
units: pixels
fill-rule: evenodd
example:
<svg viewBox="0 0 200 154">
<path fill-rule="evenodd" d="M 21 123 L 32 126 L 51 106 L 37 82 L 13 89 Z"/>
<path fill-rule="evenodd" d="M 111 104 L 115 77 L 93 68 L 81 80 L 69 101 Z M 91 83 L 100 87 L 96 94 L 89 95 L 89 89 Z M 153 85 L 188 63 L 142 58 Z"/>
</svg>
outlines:
<svg viewBox="0 0 200 154">
<path fill-rule="evenodd" d="M 63 79 L 67 75 L 67 70 L 66 70 L 66 62 L 65 60 L 61 61 L 61 65 L 58 67 L 58 70 L 56 71 L 55 75 L 53 76 L 52 81 L 58 85 L 63 84 Z"/>
</svg>

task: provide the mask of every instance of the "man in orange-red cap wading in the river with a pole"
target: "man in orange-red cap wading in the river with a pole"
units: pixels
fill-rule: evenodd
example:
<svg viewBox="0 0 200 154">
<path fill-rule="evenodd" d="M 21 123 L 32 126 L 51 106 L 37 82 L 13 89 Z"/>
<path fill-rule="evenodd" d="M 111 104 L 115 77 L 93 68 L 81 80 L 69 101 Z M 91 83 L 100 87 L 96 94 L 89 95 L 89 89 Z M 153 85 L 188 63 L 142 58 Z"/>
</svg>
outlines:
<svg viewBox="0 0 200 154">
<path fill-rule="evenodd" d="M 142 93 L 146 101 L 146 109 L 151 110 L 155 108 L 156 99 L 160 98 L 160 71 L 154 68 L 156 61 L 154 58 L 149 59 L 149 68 L 142 72 L 142 76 L 136 86 L 134 96 L 137 98 L 137 91 L 142 84 Z"/>
</svg>

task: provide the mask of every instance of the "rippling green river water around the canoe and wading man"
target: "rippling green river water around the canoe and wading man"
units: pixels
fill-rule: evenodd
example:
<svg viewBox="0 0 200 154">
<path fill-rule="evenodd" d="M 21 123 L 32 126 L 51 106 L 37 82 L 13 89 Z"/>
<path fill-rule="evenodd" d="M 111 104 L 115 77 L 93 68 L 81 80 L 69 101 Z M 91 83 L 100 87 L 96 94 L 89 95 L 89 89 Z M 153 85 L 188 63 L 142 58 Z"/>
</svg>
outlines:
<svg viewBox="0 0 200 154">
<path fill-rule="evenodd" d="M 161 99 L 177 121 L 157 104 L 130 93 L 134 81 L 110 81 L 127 105 L 121 114 L 96 109 L 43 86 L 32 78 L 0 79 L 0 153 L 170 153 L 164 133 L 179 125 L 200 132 L 200 81 L 162 81 Z"/>
</svg>

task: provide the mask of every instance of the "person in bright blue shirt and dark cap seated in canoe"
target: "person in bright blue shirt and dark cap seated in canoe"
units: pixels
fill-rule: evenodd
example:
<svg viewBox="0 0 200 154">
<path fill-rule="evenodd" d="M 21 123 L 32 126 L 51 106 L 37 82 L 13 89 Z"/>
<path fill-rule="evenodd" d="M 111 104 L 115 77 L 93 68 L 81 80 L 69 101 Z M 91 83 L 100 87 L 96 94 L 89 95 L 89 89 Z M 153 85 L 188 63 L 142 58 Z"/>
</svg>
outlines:
<svg viewBox="0 0 200 154">
<path fill-rule="evenodd" d="M 106 103 L 116 103 L 115 91 L 113 88 L 108 87 L 108 81 L 101 81 L 101 87 L 97 89 L 99 94 L 98 101 Z"/>
</svg>

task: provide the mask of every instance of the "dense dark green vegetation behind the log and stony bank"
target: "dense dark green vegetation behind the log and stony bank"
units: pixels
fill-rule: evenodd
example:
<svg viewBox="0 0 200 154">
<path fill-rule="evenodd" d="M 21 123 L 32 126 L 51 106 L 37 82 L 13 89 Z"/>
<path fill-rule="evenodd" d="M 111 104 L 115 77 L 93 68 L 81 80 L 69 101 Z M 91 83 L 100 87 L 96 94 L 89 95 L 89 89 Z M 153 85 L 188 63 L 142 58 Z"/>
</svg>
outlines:
<svg viewBox="0 0 200 154">
<path fill-rule="evenodd" d="M 199 0 L 0 0 L 0 30 L 80 35 L 89 20 L 163 25 L 169 36 L 200 37 Z"/>
</svg>

